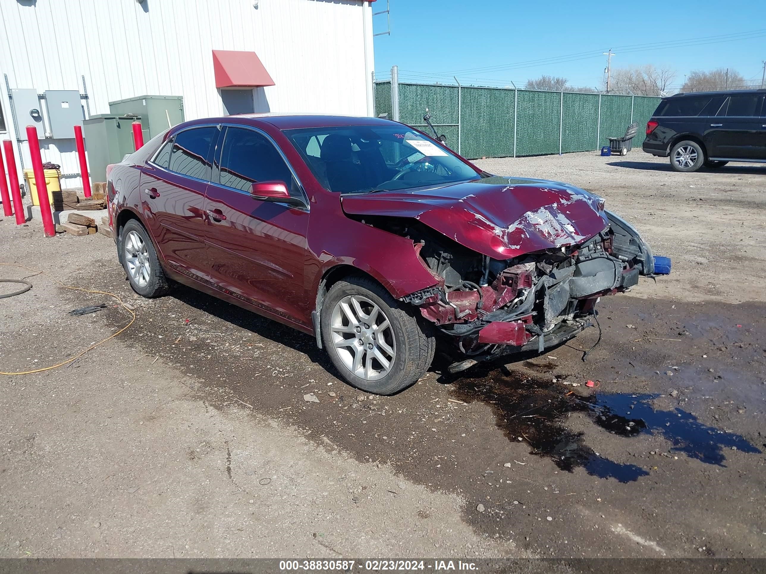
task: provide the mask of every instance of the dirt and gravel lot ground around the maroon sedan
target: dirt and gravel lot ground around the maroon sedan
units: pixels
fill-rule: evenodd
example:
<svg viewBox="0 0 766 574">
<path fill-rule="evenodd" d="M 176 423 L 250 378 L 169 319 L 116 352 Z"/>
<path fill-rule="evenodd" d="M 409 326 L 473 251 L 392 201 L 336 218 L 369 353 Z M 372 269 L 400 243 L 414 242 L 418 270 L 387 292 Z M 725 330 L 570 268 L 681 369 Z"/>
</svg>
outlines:
<svg viewBox="0 0 766 574">
<path fill-rule="evenodd" d="M 103 236 L 0 220 L 0 263 L 136 313 L 73 364 L 0 376 L 0 557 L 766 557 L 766 168 L 676 174 L 640 150 L 477 163 L 601 194 L 673 259 L 602 299 L 587 362 L 595 329 L 368 396 L 309 336 L 183 287 L 139 298 Z M 0 299 L 0 370 L 130 320 L 0 266 L 20 277 L 34 288 Z"/>
</svg>

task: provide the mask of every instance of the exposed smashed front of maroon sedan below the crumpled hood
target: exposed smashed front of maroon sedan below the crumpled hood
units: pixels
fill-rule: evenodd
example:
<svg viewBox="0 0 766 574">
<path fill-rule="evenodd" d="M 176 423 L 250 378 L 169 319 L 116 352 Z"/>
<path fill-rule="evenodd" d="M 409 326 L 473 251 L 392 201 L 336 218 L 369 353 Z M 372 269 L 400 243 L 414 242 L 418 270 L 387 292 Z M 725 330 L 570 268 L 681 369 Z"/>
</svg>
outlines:
<svg viewBox="0 0 766 574">
<path fill-rule="evenodd" d="M 653 274 L 649 247 L 608 212 L 609 225 L 577 245 L 493 259 L 450 240 L 418 220 L 364 217 L 363 221 L 408 237 L 438 285 L 401 301 L 450 341 L 457 371 L 478 360 L 552 347 L 591 326 L 604 295 L 637 285 Z M 467 358 L 466 357 L 471 357 Z"/>
</svg>

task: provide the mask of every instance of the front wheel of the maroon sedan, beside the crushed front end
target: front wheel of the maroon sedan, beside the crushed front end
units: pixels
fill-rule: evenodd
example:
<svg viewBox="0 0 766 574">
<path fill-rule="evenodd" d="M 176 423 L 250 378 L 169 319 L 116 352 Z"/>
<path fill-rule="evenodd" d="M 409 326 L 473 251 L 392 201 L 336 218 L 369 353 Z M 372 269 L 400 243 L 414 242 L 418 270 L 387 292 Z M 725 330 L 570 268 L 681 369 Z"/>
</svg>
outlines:
<svg viewBox="0 0 766 574">
<path fill-rule="evenodd" d="M 436 340 L 377 283 L 348 277 L 322 304 L 322 343 L 343 378 L 358 389 L 393 395 L 420 379 Z"/>
</svg>

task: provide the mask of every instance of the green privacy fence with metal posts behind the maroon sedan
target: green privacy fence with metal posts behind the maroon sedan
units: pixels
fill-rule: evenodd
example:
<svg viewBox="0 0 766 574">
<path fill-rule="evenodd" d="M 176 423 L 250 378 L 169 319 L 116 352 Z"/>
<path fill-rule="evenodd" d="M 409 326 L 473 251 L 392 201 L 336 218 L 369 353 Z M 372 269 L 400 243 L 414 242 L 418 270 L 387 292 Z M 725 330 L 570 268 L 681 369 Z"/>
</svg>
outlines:
<svg viewBox="0 0 766 574">
<path fill-rule="evenodd" d="M 650 96 L 375 83 L 375 115 L 387 113 L 429 132 L 423 121 L 428 108 L 437 132 L 469 159 L 590 152 L 624 135 L 633 122 L 639 124 L 637 148 L 659 103 Z"/>
</svg>

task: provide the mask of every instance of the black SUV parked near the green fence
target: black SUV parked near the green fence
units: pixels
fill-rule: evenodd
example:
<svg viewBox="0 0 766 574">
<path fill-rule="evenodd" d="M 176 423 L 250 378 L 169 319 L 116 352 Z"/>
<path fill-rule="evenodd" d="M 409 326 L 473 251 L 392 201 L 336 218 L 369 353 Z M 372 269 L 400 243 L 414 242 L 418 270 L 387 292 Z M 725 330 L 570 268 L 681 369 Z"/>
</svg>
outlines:
<svg viewBox="0 0 766 574">
<path fill-rule="evenodd" d="M 677 93 L 647 122 L 643 151 L 670 156 L 676 171 L 766 163 L 766 90 Z"/>
</svg>

